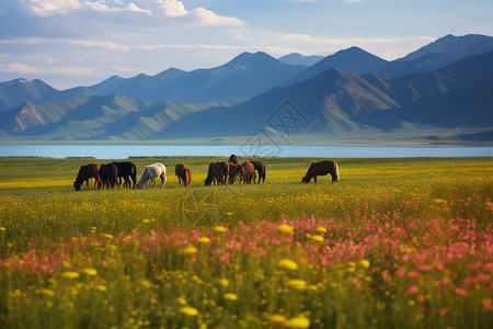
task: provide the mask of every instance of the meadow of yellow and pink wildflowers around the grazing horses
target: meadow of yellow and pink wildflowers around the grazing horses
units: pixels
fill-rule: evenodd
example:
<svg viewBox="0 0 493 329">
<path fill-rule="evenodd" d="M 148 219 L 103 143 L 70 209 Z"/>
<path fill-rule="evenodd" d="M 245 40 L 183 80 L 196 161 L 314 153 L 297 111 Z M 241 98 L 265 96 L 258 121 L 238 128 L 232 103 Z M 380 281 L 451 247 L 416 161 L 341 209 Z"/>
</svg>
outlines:
<svg viewBox="0 0 493 329">
<path fill-rule="evenodd" d="M 0 158 L 0 328 L 493 328 L 490 158 L 335 159 L 333 184 L 261 159 L 264 184 L 206 188 L 213 160 L 74 192 L 93 160 Z"/>
</svg>

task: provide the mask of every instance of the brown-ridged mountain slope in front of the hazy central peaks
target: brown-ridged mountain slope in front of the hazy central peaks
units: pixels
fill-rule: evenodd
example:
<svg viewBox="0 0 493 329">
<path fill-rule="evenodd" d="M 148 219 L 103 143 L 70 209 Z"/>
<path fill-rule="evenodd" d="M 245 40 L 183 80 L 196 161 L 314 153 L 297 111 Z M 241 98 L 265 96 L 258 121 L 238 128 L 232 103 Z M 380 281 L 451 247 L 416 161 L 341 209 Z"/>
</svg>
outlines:
<svg viewBox="0 0 493 329">
<path fill-rule="evenodd" d="M 287 88 L 274 88 L 245 103 L 213 107 L 171 124 L 154 137 L 187 138 L 239 136 L 267 126 L 272 115 L 289 100 L 309 125 L 301 132 L 352 132 L 370 127 L 352 122 L 364 113 L 389 110 L 397 104 L 365 79 L 341 70 L 325 72 Z"/>
</svg>

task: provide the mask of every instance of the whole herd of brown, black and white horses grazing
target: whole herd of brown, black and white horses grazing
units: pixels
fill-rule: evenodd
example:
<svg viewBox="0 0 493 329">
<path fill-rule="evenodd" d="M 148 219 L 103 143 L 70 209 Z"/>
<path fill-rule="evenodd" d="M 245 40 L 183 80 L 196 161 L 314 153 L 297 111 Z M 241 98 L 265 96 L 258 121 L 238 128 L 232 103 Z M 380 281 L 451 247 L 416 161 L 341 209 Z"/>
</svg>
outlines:
<svg viewBox="0 0 493 329">
<path fill-rule="evenodd" d="M 181 162 L 174 168 L 174 172 L 179 178 L 180 185 L 190 186 L 192 183 L 192 171 L 188 166 Z M 255 173 L 256 172 L 256 173 Z M 323 160 L 320 162 L 312 162 L 308 168 L 307 174 L 301 179 L 301 182 L 309 183 L 313 178 L 317 183 L 318 175 L 331 174 L 332 182 L 339 181 L 339 166 L 333 160 Z M 207 171 L 207 178 L 205 179 L 205 185 L 209 186 L 213 183 L 215 185 L 233 184 L 234 182 L 243 182 L 245 184 L 255 183 L 256 177 L 260 184 L 265 182 L 265 164 L 261 161 L 244 161 L 238 162 L 236 155 L 231 155 L 228 162 L 215 161 L 209 164 Z M 128 189 L 142 189 L 144 185 L 156 184 L 156 179 L 161 178 L 161 188 L 165 188 L 167 184 L 167 168 L 160 162 L 147 166 L 139 181 L 137 182 L 137 168 L 133 162 L 111 162 L 105 164 L 89 163 L 83 164 L 79 169 L 73 188 L 79 191 L 81 185 L 85 182 L 89 189 L 89 180 L 93 178 L 94 189 L 114 189 L 115 185 L 122 185 L 122 179 L 124 179 L 124 188 Z"/>
</svg>

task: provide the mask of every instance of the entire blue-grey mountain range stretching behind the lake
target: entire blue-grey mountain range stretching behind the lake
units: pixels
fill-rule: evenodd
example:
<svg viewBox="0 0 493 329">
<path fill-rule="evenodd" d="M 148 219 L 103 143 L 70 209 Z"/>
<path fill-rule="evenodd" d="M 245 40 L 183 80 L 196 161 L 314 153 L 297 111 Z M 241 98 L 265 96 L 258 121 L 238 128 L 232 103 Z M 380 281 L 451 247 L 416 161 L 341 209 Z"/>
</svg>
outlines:
<svg viewBox="0 0 493 329">
<path fill-rule="evenodd" d="M 0 117 L 5 140 L 228 139 L 259 128 L 300 140 L 493 140 L 493 37 L 447 35 L 393 61 L 357 47 L 243 53 L 217 68 L 62 91 L 16 79 L 0 83 Z"/>
</svg>

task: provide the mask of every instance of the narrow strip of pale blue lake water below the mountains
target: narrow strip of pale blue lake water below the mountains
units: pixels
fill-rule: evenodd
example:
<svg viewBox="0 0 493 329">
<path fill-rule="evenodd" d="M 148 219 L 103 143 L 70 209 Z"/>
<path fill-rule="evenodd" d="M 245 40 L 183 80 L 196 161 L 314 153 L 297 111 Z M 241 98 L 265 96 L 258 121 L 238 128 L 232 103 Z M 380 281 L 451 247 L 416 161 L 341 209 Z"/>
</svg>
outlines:
<svg viewBox="0 0 493 329">
<path fill-rule="evenodd" d="M 344 145 L 0 145 L 0 157 L 129 157 L 217 156 L 307 158 L 413 158 L 491 157 L 490 146 L 436 146 L 431 144 L 344 144 Z"/>
</svg>

